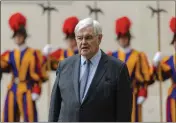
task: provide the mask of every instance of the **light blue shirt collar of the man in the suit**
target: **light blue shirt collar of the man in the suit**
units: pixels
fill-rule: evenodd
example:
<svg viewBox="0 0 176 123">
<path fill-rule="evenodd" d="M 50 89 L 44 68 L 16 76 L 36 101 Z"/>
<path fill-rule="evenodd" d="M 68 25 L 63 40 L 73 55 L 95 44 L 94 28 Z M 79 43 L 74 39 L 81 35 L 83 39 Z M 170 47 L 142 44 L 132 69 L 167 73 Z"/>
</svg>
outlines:
<svg viewBox="0 0 176 123">
<path fill-rule="evenodd" d="M 98 52 L 90 59 L 92 65 L 98 64 L 101 58 L 101 50 L 99 49 Z M 81 66 L 84 65 L 86 58 L 81 56 Z"/>
</svg>

